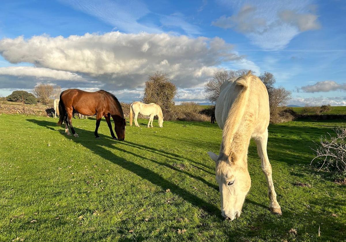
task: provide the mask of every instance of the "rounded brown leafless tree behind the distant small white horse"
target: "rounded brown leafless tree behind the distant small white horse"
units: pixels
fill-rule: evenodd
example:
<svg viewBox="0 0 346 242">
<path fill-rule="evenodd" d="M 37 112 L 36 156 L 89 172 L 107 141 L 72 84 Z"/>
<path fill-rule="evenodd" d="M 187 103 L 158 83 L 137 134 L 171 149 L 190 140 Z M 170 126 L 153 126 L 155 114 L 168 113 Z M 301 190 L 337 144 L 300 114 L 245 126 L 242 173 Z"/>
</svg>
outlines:
<svg viewBox="0 0 346 242">
<path fill-rule="evenodd" d="M 149 75 L 145 82 L 142 102 L 156 103 L 161 106 L 163 112 L 167 112 L 172 110 L 176 95 L 176 86 L 171 82 L 168 74 L 156 71 Z"/>
</svg>

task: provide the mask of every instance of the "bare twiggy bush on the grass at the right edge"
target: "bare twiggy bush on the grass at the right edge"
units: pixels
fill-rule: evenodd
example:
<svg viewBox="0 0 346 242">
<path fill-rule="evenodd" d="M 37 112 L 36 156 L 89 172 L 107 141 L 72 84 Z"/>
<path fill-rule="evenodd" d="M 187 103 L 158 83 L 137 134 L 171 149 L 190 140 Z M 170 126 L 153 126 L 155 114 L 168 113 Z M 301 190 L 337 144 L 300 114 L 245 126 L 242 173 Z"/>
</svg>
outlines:
<svg viewBox="0 0 346 242">
<path fill-rule="evenodd" d="M 315 158 L 311 160 L 311 165 L 315 162 L 319 167 L 327 171 L 336 171 L 346 173 L 346 127 L 337 127 L 333 129 L 336 136 L 327 133 L 321 136 L 319 145 L 316 149 Z"/>
</svg>

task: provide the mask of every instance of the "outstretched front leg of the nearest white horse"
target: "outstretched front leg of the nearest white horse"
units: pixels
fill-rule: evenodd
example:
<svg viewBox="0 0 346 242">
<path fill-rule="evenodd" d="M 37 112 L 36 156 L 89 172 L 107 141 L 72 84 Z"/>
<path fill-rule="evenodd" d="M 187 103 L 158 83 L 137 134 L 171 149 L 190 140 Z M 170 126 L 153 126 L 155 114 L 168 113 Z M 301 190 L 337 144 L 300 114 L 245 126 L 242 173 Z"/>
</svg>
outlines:
<svg viewBox="0 0 346 242">
<path fill-rule="evenodd" d="M 261 167 L 268 185 L 268 197 L 270 199 L 269 210 L 274 214 L 281 214 L 281 207 L 276 201 L 276 193 L 272 178 L 272 166 L 269 163 L 267 155 L 267 141 L 268 141 L 268 130 L 266 130 L 261 136 L 255 138 L 257 145 L 258 156 L 261 158 Z"/>
</svg>

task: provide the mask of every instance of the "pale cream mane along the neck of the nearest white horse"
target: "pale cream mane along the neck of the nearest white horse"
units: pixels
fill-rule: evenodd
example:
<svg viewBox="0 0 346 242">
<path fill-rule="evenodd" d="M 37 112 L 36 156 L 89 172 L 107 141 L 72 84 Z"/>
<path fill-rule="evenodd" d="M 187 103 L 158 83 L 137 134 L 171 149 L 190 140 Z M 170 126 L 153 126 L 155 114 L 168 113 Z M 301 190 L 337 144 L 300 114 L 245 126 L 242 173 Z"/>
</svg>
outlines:
<svg viewBox="0 0 346 242">
<path fill-rule="evenodd" d="M 246 103 L 248 101 L 249 96 L 249 82 L 252 77 L 251 71 L 249 71 L 247 74 L 239 77 L 234 83 L 241 87 L 238 96 L 234 100 L 225 122 L 224 130 L 222 131 L 222 142 L 221 142 L 221 150 L 218 160 L 225 160 L 226 157 L 230 155 L 230 147 L 231 143 L 233 142 L 233 137 L 235 133 L 237 132 L 237 129 L 239 127 L 239 123 L 242 121 L 245 109 L 246 109 Z M 226 157 L 222 157 L 226 156 Z"/>
</svg>

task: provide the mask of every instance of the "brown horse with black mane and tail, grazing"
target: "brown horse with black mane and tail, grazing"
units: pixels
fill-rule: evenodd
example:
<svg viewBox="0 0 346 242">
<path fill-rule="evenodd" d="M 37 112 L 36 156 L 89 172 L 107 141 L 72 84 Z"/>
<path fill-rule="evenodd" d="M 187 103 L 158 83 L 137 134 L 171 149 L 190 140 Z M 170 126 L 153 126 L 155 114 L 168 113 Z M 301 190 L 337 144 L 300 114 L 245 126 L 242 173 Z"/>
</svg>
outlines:
<svg viewBox="0 0 346 242">
<path fill-rule="evenodd" d="M 72 126 L 72 113 L 76 110 L 82 115 L 96 115 L 96 139 L 100 139 L 97 130 L 100 126 L 102 116 L 107 121 L 110 133 L 113 139 L 117 139 L 112 130 L 112 124 L 110 117 L 114 120 L 114 130 L 119 140 L 125 139 L 125 119 L 122 112 L 121 105 L 118 99 L 109 92 L 100 90 L 97 92 L 85 92 L 79 89 L 67 89 L 60 94 L 59 112 L 60 118 L 58 125 L 61 125 L 65 120 L 65 132 L 67 135 L 71 135 L 69 132 L 69 126 L 74 137 L 78 137 L 78 134 L 74 131 Z"/>
</svg>

